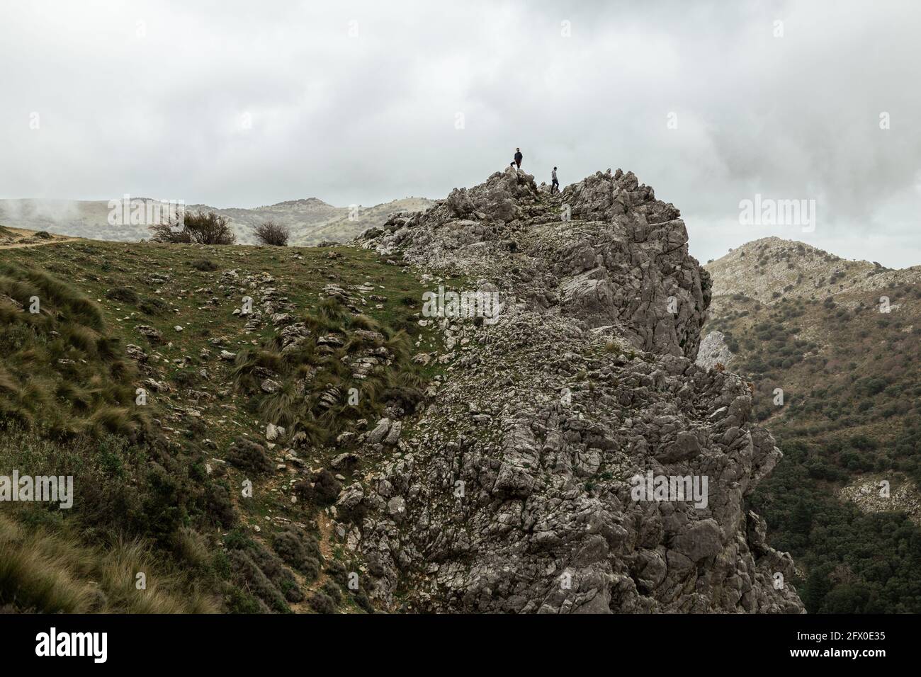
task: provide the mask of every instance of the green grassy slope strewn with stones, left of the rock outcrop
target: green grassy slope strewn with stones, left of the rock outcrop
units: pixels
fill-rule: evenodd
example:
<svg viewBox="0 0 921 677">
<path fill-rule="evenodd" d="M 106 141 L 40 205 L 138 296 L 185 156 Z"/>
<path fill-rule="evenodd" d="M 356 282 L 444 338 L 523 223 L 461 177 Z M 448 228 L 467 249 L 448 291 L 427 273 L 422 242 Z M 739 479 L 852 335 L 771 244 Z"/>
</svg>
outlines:
<svg viewBox="0 0 921 677">
<path fill-rule="evenodd" d="M 331 461 L 437 375 L 423 291 L 347 247 L 0 250 L 0 474 L 75 493 L 0 504 L 0 607 L 369 609 L 324 510 L 371 460 Z"/>
</svg>

